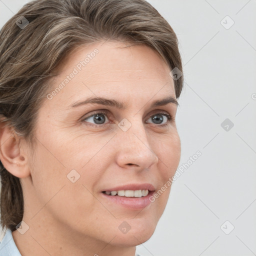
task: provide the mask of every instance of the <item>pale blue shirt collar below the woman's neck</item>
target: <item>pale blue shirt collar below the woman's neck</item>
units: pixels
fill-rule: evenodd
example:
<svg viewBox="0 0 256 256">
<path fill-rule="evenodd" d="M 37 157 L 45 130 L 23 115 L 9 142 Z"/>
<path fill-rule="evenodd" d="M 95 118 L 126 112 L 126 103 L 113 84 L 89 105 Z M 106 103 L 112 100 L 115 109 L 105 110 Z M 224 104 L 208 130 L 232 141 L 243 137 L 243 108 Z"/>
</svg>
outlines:
<svg viewBox="0 0 256 256">
<path fill-rule="evenodd" d="M 6 229 L 6 232 L 0 242 L 0 256 L 21 256 L 9 228 Z M 136 253 L 135 256 L 142 255 Z"/>
</svg>

